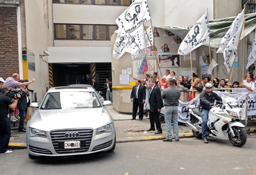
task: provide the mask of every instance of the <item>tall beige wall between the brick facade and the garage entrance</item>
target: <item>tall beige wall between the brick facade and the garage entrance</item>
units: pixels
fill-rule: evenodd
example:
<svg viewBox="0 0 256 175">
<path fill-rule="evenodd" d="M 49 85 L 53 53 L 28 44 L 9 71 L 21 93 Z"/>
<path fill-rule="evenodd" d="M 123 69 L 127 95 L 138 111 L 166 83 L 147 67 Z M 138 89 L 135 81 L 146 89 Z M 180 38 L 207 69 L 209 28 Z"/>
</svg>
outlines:
<svg viewBox="0 0 256 175">
<path fill-rule="evenodd" d="M 52 24 L 51 19 L 48 23 L 44 19 L 43 0 L 25 0 L 26 12 L 26 38 L 27 49 L 35 54 L 35 71 L 28 69 L 28 79 L 35 78 L 35 82 L 30 85 L 37 93 L 37 99 L 40 103 L 43 98 L 42 89 L 49 86 L 48 63 L 40 59 L 39 55 L 43 55 L 43 51 L 47 51 L 49 45 L 53 45 Z M 49 18 L 51 18 L 52 1 L 48 1 Z M 43 57 L 48 61 L 47 57 Z M 34 99 L 31 98 L 31 99 Z"/>
</svg>

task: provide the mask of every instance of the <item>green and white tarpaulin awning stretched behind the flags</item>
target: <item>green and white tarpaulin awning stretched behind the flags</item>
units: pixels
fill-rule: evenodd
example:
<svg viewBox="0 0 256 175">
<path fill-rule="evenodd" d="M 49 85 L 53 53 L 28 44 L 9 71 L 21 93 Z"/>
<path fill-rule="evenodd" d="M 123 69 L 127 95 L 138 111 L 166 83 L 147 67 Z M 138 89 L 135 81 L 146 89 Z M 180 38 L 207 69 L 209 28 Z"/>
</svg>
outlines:
<svg viewBox="0 0 256 175">
<path fill-rule="evenodd" d="M 215 19 L 209 21 L 210 26 L 210 47 L 219 48 L 221 39 L 225 36 L 226 32 L 229 30 L 229 27 L 233 23 L 234 19 L 237 16 L 232 16 L 229 18 Z M 188 27 L 169 27 L 169 26 L 155 26 L 159 29 L 164 29 L 172 32 L 180 38 L 185 38 L 187 31 L 190 30 L 193 26 Z M 245 15 L 245 35 L 247 36 L 256 28 L 256 13 Z M 241 35 L 240 40 L 243 39 Z M 208 44 L 207 44 L 208 46 Z"/>
</svg>

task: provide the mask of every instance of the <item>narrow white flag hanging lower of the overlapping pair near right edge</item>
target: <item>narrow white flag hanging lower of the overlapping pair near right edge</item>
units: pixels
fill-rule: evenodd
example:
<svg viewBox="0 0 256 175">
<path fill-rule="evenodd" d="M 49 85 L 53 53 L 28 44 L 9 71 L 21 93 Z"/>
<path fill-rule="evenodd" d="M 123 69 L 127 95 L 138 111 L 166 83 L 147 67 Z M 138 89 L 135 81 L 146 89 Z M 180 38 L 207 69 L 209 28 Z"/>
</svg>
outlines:
<svg viewBox="0 0 256 175">
<path fill-rule="evenodd" d="M 226 48 L 223 52 L 224 65 L 226 66 L 226 70 L 228 70 L 228 73 L 232 67 L 234 58 L 237 53 L 237 45 L 238 45 L 238 41 L 240 40 L 240 33 L 242 28 L 243 28 L 243 24 L 239 27 L 236 34 L 234 34 L 232 39 L 229 41 L 228 45 L 226 45 Z"/>
</svg>

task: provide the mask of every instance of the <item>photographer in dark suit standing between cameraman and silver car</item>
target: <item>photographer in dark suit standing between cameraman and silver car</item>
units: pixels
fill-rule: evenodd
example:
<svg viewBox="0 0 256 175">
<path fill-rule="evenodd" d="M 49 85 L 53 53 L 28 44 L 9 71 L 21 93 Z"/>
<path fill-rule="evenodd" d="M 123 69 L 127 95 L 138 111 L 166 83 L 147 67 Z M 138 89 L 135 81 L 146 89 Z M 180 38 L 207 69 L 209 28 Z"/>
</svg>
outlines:
<svg viewBox="0 0 256 175">
<path fill-rule="evenodd" d="M 18 130 L 20 132 L 26 132 L 26 128 L 24 128 L 24 120 L 27 116 L 27 103 L 28 103 L 28 96 L 30 95 L 30 91 L 28 90 L 27 87 L 25 87 L 23 85 L 24 80 L 19 80 L 20 82 L 20 86 L 16 89 L 19 90 L 20 93 L 20 100 L 18 102 L 17 108 L 19 110 L 19 114 L 20 114 L 20 120 L 19 120 L 19 128 Z"/>
</svg>

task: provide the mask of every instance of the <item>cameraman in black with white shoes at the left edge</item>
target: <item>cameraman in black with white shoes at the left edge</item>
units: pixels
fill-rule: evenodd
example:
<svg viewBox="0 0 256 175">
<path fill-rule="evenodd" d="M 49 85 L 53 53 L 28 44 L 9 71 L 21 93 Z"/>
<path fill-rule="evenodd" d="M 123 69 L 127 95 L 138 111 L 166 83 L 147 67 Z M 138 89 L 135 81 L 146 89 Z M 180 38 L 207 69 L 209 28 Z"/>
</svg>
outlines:
<svg viewBox="0 0 256 175">
<path fill-rule="evenodd" d="M 11 137 L 11 123 L 8 118 L 8 109 L 15 110 L 20 94 L 14 96 L 13 102 L 7 97 L 8 86 L 0 88 L 0 154 L 11 153 L 7 150 Z"/>
</svg>

